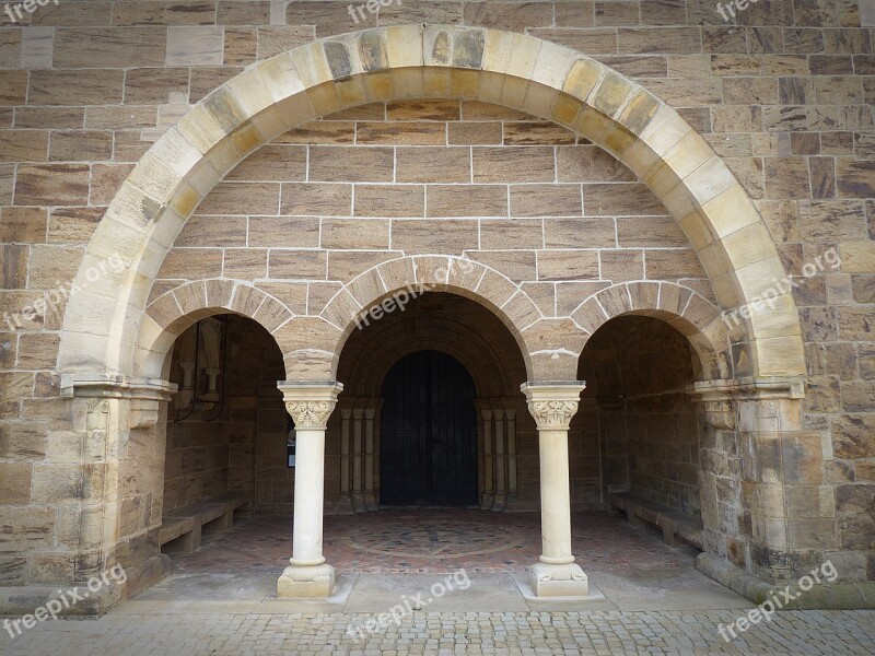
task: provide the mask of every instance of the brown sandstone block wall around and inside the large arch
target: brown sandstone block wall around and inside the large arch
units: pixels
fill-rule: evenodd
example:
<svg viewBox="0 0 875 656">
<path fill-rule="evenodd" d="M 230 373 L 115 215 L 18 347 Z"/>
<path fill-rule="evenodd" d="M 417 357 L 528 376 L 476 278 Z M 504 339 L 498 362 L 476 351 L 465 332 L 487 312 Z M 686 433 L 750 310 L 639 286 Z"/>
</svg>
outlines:
<svg viewBox="0 0 875 656">
<path fill-rule="evenodd" d="M 57 468 L 69 435 L 85 429 L 59 396 L 56 360 L 69 281 L 135 163 L 256 60 L 329 34 L 422 22 L 578 48 L 676 107 L 723 157 L 801 282 L 807 380 L 801 435 L 772 452 L 789 454 L 772 472 L 786 489 L 769 500 L 785 516 L 757 528 L 736 503 L 721 513 L 794 562 L 829 557 L 844 577 L 875 578 L 871 3 L 769 0 L 732 24 L 710 0 L 406 0 L 359 24 L 342 1 L 283 5 L 61 0 L 21 25 L 0 24 L 0 522 L 11 527 L 0 536 L 1 584 L 82 571 L 70 560 L 68 520 L 83 511 Z M 469 219 L 475 211 L 482 219 Z M 188 223 L 152 295 L 224 276 L 300 312 L 399 249 L 439 249 L 525 281 L 553 313 L 608 281 L 639 278 L 682 280 L 713 301 L 700 258 L 666 214 L 612 159 L 528 116 L 466 102 L 368 105 L 244 162 Z M 812 265 L 830 248 L 840 266 Z M 290 276 L 307 282 L 283 284 Z M 44 294 L 58 302 L 31 312 Z M 737 347 L 734 356 L 744 364 L 750 354 Z M 744 453 L 736 429 L 749 419 L 713 435 L 730 464 Z M 762 453 L 773 446 L 762 444 Z M 731 467 L 721 477 L 762 478 Z M 130 522 L 154 527 L 143 507 L 129 508 Z"/>
</svg>

